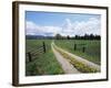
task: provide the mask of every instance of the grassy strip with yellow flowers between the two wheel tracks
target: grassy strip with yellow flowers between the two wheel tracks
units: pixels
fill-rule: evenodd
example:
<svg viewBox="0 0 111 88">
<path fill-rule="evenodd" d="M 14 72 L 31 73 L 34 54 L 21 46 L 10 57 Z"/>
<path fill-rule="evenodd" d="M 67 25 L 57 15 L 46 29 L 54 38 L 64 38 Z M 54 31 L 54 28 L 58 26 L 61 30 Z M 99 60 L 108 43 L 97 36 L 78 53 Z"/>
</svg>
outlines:
<svg viewBox="0 0 111 88">
<path fill-rule="evenodd" d="M 54 48 L 64 57 L 67 58 L 79 72 L 81 73 L 98 73 L 100 70 L 89 67 L 85 64 L 78 62 L 75 58 L 71 57 L 67 53 L 60 51 L 58 47 L 54 46 Z"/>
</svg>

